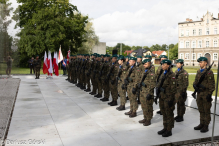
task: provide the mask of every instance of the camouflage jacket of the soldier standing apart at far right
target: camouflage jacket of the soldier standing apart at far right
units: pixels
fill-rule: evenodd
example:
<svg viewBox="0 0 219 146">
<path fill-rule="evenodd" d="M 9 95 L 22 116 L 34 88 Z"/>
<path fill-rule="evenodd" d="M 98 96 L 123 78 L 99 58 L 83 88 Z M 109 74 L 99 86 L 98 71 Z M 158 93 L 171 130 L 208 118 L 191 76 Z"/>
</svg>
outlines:
<svg viewBox="0 0 219 146">
<path fill-rule="evenodd" d="M 204 69 L 203 72 L 200 70 L 197 71 L 197 74 L 195 76 L 195 82 L 193 84 L 197 84 L 200 77 L 207 71 L 207 68 Z M 202 81 L 201 85 L 205 87 L 205 89 L 201 89 L 202 93 L 211 94 L 215 90 L 215 80 L 214 80 L 214 73 L 212 70 L 209 70 L 207 72 L 207 75 L 205 76 L 204 80 Z"/>
</svg>

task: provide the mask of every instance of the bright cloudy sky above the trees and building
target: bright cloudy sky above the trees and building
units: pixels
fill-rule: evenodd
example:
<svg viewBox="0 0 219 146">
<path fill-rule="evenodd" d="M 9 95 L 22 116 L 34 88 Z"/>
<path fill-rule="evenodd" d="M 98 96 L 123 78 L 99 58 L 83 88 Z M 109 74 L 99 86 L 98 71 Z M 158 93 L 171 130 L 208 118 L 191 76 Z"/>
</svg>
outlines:
<svg viewBox="0 0 219 146">
<path fill-rule="evenodd" d="M 10 0 L 16 7 L 16 0 Z M 217 0 L 69 0 L 93 18 L 96 34 L 107 46 L 151 46 L 178 42 L 178 22 L 199 20 L 207 10 L 218 17 Z M 198 17 L 198 18 L 197 18 Z M 11 24 L 11 34 L 14 33 Z M 13 31 L 13 32 L 12 32 Z"/>
</svg>

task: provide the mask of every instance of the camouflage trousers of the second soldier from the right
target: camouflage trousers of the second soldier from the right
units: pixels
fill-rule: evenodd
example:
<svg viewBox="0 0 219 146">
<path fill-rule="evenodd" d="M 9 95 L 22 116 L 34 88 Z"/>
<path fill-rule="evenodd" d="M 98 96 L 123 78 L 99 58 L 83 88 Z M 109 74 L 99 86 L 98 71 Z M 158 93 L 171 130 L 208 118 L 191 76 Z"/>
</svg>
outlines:
<svg viewBox="0 0 219 146">
<path fill-rule="evenodd" d="M 186 97 L 182 97 L 180 93 L 176 93 L 175 95 L 175 104 L 177 105 L 177 115 L 182 117 L 186 112 L 186 102 L 187 99 L 187 93 Z"/>
</svg>

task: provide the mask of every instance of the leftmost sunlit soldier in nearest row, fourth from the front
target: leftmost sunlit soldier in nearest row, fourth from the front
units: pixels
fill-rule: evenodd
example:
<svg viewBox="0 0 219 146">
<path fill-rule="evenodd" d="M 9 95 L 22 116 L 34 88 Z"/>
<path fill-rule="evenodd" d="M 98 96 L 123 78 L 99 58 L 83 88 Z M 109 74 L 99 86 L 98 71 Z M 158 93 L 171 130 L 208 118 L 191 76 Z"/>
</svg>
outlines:
<svg viewBox="0 0 219 146">
<path fill-rule="evenodd" d="M 118 93 L 120 95 L 120 106 L 117 107 L 116 109 L 118 111 L 123 111 L 125 110 L 125 103 L 126 103 L 126 89 L 122 89 L 122 85 L 124 84 L 124 79 L 127 74 L 127 70 L 129 69 L 128 66 L 126 66 L 125 58 L 124 56 L 120 56 L 118 58 L 118 63 L 119 63 L 119 72 L 117 74 L 117 88 L 118 88 Z"/>
</svg>

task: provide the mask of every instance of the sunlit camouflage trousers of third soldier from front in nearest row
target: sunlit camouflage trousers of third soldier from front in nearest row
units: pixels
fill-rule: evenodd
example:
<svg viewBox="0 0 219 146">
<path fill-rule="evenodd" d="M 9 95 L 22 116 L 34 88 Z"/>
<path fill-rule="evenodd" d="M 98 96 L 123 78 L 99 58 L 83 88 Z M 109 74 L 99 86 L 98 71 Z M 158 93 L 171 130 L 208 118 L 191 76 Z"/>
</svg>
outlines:
<svg viewBox="0 0 219 146">
<path fill-rule="evenodd" d="M 132 85 L 127 87 L 128 97 L 130 101 L 130 110 L 136 112 L 138 110 L 137 96 L 132 93 Z"/>
</svg>

